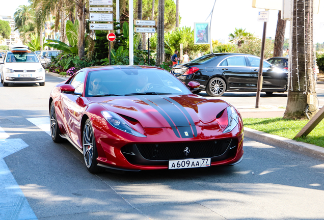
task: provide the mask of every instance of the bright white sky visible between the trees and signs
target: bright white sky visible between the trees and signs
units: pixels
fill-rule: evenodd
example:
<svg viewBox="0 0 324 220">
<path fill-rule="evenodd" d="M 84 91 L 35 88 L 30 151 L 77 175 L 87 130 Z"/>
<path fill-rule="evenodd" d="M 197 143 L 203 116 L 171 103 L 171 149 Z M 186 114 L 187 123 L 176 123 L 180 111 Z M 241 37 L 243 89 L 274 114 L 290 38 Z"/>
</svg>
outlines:
<svg viewBox="0 0 324 220">
<path fill-rule="evenodd" d="M 174 0 L 175 1 L 175 0 Z M 269 0 L 271 1 L 271 0 Z M 28 0 L 1 0 L 0 15 L 13 16 L 19 5 L 29 5 Z M 214 0 L 179 0 L 181 26 L 191 26 L 195 22 L 210 21 L 207 19 Z M 217 0 L 211 21 L 211 38 L 225 40 L 235 28 L 246 29 L 255 36 L 262 37 L 263 22 L 257 21 L 258 12 L 264 9 L 252 8 L 252 0 Z M 275 38 L 278 11 L 270 10 L 267 22 L 266 37 Z M 321 0 L 319 13 L 314 14 L 314 43 L 324 42 L 324 0 Z M 290 22 L 287 21 L 285 38 L 290 36 Z"/>
</svg>

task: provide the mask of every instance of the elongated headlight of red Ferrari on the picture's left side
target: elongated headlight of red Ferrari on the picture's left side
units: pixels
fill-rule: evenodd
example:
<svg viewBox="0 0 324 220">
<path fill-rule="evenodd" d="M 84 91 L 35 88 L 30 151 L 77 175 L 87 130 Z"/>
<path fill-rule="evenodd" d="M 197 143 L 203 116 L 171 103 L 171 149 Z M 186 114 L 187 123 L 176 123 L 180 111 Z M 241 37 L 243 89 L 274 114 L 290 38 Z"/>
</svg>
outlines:
<svg viewBox="0 0 324 220">
<path fill-rule="evenodd" d="M 137 132 L 136 130 L 132 129 L 125 120 L 123 120 L 119 115 L 110 111 L 102 111 L 101 115 L 105 118 L 105 120 L 114 128 L 122 130 L 126 133 L 129 133 L 134 136 L 138 137 L 146 137 L 144 134 Z"/>
</svg>

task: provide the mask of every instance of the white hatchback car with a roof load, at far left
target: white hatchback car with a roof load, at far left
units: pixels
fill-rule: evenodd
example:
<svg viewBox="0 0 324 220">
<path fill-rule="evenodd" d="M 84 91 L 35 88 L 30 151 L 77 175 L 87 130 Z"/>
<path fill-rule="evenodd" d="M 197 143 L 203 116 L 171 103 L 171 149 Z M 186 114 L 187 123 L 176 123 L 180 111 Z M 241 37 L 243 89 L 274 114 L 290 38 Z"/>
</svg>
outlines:
<svg viewBox="0 0 324 220">
<path fill-rule="evenodd" d="M 36 54 L 28 46 L 13 47 L 0 61 L 1 82 L 11 84 L 34 84 L 45 86 L 45 70 Z"/>
</svg>

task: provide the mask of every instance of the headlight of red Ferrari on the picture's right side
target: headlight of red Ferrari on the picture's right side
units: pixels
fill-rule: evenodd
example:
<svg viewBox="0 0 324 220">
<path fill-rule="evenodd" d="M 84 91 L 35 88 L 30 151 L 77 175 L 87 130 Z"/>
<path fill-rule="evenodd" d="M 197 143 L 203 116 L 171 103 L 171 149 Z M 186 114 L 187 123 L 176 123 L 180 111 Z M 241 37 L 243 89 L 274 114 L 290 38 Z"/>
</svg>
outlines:
<svg viewBox="0 0 324 220">
<path fill-rule="evenodd" d="M 232 106 L 225 108 L 216 118 L 219 125 L 225 127 L 223 133 L 231 132 L 238 124 L 238 115 Z"/>
</svg>

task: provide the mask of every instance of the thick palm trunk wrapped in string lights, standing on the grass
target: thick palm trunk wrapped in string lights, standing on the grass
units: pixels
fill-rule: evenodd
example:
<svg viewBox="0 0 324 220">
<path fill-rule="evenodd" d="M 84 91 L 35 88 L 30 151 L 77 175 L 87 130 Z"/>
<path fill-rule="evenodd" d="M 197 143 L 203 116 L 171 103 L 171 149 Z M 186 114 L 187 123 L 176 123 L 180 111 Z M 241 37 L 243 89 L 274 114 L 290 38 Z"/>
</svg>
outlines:
<svg viewBox="0 0 324 220">
<path fill-rule="evenodd" d="M 313 71 L 313 1 L 293 0 L 292 46 L 289 57 L 289 90 L 286 119 L 306 118 L 305 109 L 309 106 L 309 117 L 318 109 L 307 103 L 307 95 L 315 95 L 315 77 Z M 315 111 L 316 110 L 316 111 Z"/>
</svg>

